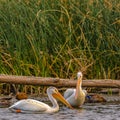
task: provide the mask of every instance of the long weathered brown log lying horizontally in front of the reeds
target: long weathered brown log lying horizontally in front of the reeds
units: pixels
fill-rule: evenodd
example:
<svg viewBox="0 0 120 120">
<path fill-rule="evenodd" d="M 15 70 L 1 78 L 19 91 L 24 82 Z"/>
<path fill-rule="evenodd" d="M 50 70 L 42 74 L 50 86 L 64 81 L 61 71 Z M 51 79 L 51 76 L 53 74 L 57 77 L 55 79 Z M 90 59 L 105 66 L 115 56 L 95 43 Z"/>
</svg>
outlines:
<svg viewBox="0 0 120 120">
<path fill-rule="evenodd" d="M 0 75 L 0 83 L 23 84 L 23 85 L 43 85 L 56 87 L 75 87 L 77 80 L 60 79 L 49 77 L 34 77 L 34 76 L 14 76 Z M 106 87 L 120 88 L 120 80 L 83 80 L 83 87 Z"/>
</svg>

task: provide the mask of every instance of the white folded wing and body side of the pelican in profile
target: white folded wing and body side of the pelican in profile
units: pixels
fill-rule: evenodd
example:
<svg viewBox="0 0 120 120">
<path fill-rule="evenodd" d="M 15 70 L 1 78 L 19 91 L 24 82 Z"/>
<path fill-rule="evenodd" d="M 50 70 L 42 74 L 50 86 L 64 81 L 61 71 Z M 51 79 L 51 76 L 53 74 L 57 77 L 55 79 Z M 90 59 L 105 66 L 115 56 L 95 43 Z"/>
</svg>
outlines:
<svg viewBox="0 0 120 120">
<path fill-rule="evenodd" d="M 48 108 L 47 104 L 33 99 L 20 100 L 9 107 L 11 111 L 21 110 L 21 112 L 44 112 Z"/>
</svg>

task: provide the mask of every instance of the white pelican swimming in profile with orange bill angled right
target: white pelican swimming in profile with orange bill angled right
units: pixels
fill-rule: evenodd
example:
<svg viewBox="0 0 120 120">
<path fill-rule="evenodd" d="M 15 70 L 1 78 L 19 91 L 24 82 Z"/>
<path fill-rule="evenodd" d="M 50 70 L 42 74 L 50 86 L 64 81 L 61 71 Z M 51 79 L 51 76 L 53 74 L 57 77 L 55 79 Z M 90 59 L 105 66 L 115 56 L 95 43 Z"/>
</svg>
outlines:
<svg viewBox="0 0 120 120">
<path fill-rule="evenodd" d="M 9 107 L 9 110 L 12 112 L 17 113 L 53 113 L 57 112 L 59 110 L 59 105 L 55 98 L 59 99 L 61 102 L 63 102 L 68 107 L 72 108 L 71 105 L 65 100 L 65 98 L 58 92 L 58 90 L 55 87 L 49 87 L 47 89 L 47 94 L 50 99 L 50 101 L 53 104 L 53 107 L 50 107 L 49 105 L 34 100 L 34 99 L 24 99 L 16 102 L 12 106 Z"/>
</svg>

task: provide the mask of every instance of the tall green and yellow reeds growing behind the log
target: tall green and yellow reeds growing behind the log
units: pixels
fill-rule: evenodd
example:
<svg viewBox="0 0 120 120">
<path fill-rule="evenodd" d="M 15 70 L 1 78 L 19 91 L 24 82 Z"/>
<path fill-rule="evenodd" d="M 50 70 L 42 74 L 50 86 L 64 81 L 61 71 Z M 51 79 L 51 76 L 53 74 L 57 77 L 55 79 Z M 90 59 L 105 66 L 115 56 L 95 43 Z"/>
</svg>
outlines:
<svg viewBox="0 0 120 120">
<path fill-rule="evenodd" d="M 0 74 L 120 79 L 119 28 L 119 0 L 1 0 Z"/>
</svg>

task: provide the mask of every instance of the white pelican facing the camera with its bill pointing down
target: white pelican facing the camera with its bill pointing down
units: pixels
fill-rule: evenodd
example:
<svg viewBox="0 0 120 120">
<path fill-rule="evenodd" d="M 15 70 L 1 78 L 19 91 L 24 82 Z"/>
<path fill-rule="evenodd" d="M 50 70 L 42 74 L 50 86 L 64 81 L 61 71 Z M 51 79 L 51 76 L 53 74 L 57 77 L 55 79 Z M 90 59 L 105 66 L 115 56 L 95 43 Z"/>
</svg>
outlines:
<svg viewBox="0 0 120 120">
<path fill-rule="evenodd" d="M 76 89 L 67 89 L 64 93 L 64 98 L 73 107 L 79 107 L 85 101 L 86 90 L 82 90 L 82 77 L 82 73 L 78 72 Z"/>
</svg>

